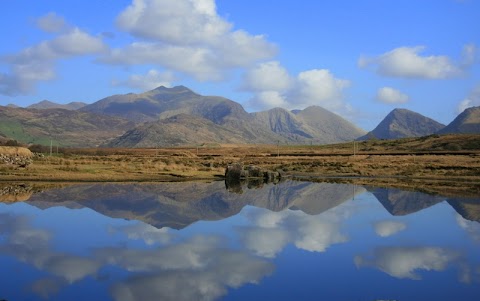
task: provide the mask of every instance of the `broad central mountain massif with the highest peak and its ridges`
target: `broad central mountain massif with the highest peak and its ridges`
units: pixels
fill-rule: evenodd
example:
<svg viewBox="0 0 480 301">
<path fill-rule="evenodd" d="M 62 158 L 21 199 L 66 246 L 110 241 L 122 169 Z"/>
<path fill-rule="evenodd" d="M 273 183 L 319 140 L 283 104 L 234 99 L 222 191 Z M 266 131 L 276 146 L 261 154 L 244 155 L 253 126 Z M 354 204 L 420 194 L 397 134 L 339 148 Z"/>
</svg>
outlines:
<svg viewBox="0 0 480 301">
<path fill-rule="evenodd" d="M 114 95 L 80 109 L 138 124 L 109 146 L 153 147 L 199 143 L 333 143 L 365 132 L 320 107 L 247 113 L 227 98 L 202 96 L 177 86 Z M 177 118 L 173 118 L 179 116 Z M 148 122 L 146 124 L 143 124 Z M 168 130 L 167 130 L 168 129 Z"/>
</svg>

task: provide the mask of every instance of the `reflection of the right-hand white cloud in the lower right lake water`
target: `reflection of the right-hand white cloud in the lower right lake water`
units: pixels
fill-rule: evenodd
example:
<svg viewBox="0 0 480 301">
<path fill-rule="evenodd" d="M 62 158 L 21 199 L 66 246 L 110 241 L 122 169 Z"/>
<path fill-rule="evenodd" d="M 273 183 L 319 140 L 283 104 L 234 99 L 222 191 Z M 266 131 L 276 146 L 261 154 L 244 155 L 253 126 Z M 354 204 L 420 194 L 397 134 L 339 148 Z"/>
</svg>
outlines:
<svg viewBox="0 0 480 301">
<path fill-rule="evenodd" d="M 395 278 L 421 279 L 418 270 L 443 271 L 458 254 L 435 247 L 380 247 L 372 258 L 355 257 L 355 265 L 375 267 Z"/>
</svg>

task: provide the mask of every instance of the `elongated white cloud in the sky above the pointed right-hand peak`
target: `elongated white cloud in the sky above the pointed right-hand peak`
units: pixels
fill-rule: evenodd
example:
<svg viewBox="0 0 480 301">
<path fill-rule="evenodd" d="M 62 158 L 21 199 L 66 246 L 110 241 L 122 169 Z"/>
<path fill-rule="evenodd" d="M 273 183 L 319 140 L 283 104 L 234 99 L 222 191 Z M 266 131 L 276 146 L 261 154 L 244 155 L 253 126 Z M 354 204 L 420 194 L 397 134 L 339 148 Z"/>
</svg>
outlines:
<svg viewBox="0 0 480 301">
<path fill-rule="evenodd" d="M 377 57 L 360 57 L 358 65 L 373 66 L 382 76 L 400 78 L 446 79 L 462 73 L 448 56 L 421 56 L 424 50 L 424 46 L 395 48 Z"/>
</svg>

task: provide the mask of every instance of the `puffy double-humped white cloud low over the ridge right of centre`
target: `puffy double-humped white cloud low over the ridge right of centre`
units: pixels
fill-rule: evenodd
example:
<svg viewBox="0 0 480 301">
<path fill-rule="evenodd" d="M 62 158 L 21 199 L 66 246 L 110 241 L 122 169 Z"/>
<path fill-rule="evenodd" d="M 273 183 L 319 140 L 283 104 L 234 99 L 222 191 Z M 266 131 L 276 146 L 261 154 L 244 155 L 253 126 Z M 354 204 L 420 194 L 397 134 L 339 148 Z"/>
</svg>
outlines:
<svg viewBox="0 0 480 301">
<path fill-rule="evenodd" d="M 292 77 L 276 61 L 247 71 L 242 84 L 244 90 L 255 93 L 250 103 L 258 109 L 304 109 L 317 105 L 333 111 L 348 107 L 343 91 L 349 86 L 350 81 L 336 78 L 327 69 L 307 70 Z"/>
</svg>

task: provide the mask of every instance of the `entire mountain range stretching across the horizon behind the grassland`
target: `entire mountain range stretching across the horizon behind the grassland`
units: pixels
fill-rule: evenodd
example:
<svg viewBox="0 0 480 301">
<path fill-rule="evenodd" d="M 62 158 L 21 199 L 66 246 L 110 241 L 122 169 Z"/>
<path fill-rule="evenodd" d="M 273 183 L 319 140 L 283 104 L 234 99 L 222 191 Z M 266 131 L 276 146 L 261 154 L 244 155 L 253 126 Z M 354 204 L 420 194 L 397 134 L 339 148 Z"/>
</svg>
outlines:
<svg viewBox="0 0 480 301">
<path fill-rule="evenodd" d="M 0 136 L 38 144 L 53 139 L 77 147 L 329 144 L 472 132 L 480 132 L 480 107 L 465 110 L 446 127 L 421 114 L 395 109 L 367 134 L 321 107 L 248 113 L 230 99 L 203 96 L 184 86 L 112 95 L 92 104 L 44 100 L 27 108 L 0 106 Z"/>
</svg>

